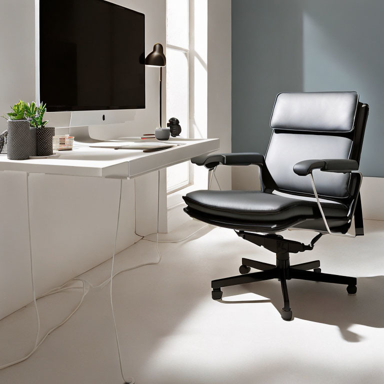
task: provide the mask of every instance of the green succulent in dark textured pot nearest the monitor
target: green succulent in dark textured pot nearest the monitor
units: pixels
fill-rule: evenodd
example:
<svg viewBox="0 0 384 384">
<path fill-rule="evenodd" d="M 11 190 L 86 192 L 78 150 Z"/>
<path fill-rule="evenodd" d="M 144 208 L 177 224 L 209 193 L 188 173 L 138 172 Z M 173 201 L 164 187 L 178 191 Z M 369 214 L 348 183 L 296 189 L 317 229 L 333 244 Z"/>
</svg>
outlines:
<svg viewBox="0 0 384 384">
<path fill-rule="evenodd" d="M 45 111 L 46 107 L 42 102 L 40 102 L 40 105 L 36 105 L 32 101 L 25 106 L 25 116 L 30 120 L 30 125 L 34 126 L 37 131 L 37 156 L 53 154 L 52 138 L 54 136 L 54 128 L 45 126 L 49 122 L 49 120 L 43 120 Z"/>
</svg>

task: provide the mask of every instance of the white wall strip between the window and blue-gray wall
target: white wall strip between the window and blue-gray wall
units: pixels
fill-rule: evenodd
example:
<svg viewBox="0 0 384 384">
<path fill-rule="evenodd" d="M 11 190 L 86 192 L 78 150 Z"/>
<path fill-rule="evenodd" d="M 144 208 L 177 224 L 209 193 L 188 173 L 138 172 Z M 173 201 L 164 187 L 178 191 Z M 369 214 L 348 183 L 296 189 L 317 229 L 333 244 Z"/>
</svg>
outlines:
<svg viewBox="0 0 384 384">
<path fill-rule="evenodd" d="M 230 0 L 190 0 L 190 136 L 219 138 L 218 152 L 231 151 L 230 11 Z M 193 172 L 196 188 L 205 188 L 207 170 L 194 166 Z M 230 189 L 230 167 L 218 167 L 216 175 Z"/>
</svg>

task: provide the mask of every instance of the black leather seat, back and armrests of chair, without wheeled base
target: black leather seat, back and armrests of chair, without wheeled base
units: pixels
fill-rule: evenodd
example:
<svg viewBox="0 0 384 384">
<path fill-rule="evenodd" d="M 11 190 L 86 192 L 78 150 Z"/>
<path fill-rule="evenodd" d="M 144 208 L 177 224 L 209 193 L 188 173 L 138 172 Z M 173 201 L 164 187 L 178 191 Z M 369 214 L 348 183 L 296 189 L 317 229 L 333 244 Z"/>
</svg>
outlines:
<svg viewBox="0 0 384 384">
<path fill-rule="evenodd" d="M 324 232 L 310 179 L 303 177 L 310 167 L 330 227 L 345 233 L 358 199 L 361 176 L 350 171 L 358 169 L 366 114 L 356 92 L 279 93 L 265 157 L 223 153 L 192 159 L 208 168 L 257 164 L 262 191 L 193 191 L 184 197 L 185 211 L 225 227 L 243 223 L 244 229 L 275 233 L 277 224 L 279 230 Z"/>
</svg>

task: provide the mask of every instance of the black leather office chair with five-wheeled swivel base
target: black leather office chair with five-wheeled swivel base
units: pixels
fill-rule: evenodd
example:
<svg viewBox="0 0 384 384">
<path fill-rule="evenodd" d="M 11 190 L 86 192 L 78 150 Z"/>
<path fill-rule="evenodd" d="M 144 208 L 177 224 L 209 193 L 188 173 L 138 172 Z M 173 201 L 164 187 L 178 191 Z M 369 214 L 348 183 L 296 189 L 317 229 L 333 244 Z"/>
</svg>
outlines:
<svg viewBox="0 0 384 384">
<path fill-rule="evenodd" d="M 325 233 L 363 235 L 359 166 L 368 105 L 356 92 L 292 92 L 276 97 L 265 157 L 260 153 L 221 153 L 191 161 L 212 171 L 218 164 L 260 167 L 261 190 L 196 190 L 187 193 L 184 211 L 201 221 L 236 231 L 238 236 L 276 253 L 276 265 L 242 258 L 240 275 L 212 281 L 212 298 L 221 287 L 278 278 L 284 307 L 292 318 L 286 280 L 333 282 L 356 293 L 356 278 L 322 273 L 320 261 L 289 264 L 289 253 L 312 250 Z M 288 228 L 318 232 L 309 244 L 276 234 Z M 352 236 L 354 237 L 354 236 Z M 250 268 L 261 270 L 248 273 Z M 313 269 L 313 271 L 309 271 Z"/>
</svg>

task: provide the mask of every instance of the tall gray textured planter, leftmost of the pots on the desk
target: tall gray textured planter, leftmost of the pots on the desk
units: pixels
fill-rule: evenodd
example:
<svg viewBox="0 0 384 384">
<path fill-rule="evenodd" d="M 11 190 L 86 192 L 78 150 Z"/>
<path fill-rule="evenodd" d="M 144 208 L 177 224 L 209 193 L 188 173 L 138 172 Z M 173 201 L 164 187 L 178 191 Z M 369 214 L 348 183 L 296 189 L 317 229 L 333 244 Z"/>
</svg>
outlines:
<svg viewBox="0 0 384 384">
<path fill-rule="evenodd" d="M 36 155 L 36 128 L 28 120 L 8 120 L 7 157 L 10 160 L 26 160 Z"/>
</svg>

